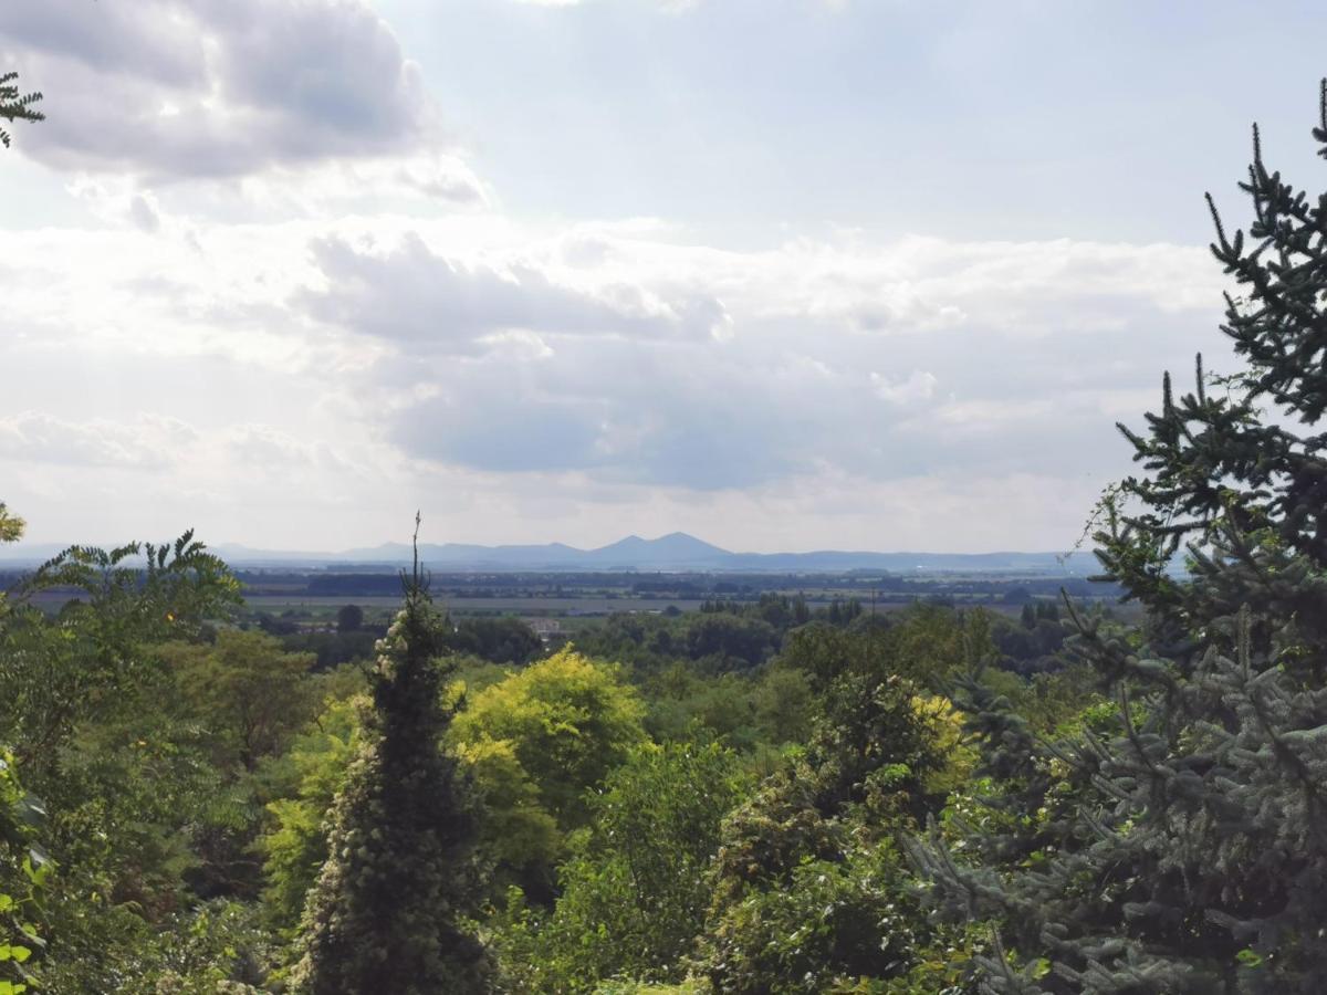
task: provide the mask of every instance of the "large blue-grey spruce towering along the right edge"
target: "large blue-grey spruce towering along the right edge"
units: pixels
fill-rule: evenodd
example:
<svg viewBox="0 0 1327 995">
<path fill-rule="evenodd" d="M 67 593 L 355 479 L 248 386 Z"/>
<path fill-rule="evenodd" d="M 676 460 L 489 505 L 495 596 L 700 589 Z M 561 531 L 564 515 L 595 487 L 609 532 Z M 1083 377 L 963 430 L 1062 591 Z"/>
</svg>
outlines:
<svg viewBox="0 0 1327 995">
<path fill-rule="evenodd" d="M 1327 80 L 1312 134 L 1327 158 Z M 1327 991 L 1327 194 L 1269 171 L 1257 129 L 1239 186 L 1247 233 L 1208 200 L 1246 369 L 1200 358 L 1121 426 L 1147 474 L 1095 540 L 1147 622 L 1074 614 L 1113 714 L 1044 743 L 969 682 L 1003 829 L 912 848 L 943 910 L 991 923 L 986 991 Z"/>
</svg>

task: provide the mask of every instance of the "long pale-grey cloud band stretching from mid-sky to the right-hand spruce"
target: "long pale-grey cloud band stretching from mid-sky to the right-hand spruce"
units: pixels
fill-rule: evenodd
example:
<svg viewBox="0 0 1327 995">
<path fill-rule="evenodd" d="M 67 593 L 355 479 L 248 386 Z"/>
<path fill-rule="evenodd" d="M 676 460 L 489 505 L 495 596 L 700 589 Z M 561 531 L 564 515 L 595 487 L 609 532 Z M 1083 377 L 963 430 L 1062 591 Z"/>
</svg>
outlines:
<svg viewBox="0 0 1327 995">
<path fill-rule="evenodd" d="M 1084 305 L 1109 312 L 1092 295 Z M 954 467 L 973 479 L 1104 480 L 1128 468 L 1113 429 L 1121 395 L 1132 405 L 1162 365 L 1190 362 L 1192 342 L 1210 345 L 1201 316 L 1128 298 L 1115 312 L 1119 328 L 1036 337 L 967 321 L 881 338 L 739 314 L 722 342 L 568 338 L 544 356 L 451 365 L 417 354 L 411 374 L 393 373 L 438 397 L 394 415 L 393 440 L 441 464 L 699 492 Z M 1147 403 L 1125 419 L 1141 421 Z"/>
</svg>

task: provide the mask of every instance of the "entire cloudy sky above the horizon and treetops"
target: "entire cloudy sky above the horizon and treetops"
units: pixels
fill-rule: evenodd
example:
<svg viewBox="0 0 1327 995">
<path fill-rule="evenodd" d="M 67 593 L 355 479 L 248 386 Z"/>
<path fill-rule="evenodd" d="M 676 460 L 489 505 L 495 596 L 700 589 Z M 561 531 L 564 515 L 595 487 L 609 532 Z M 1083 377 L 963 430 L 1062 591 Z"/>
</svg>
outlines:
<svg viewBox="0 0 1327 995">
<path fill-rule="evenodd" d="M 4 0 L 31 543 L 1063 551 L 1320 3 Z"/>
</svg>

